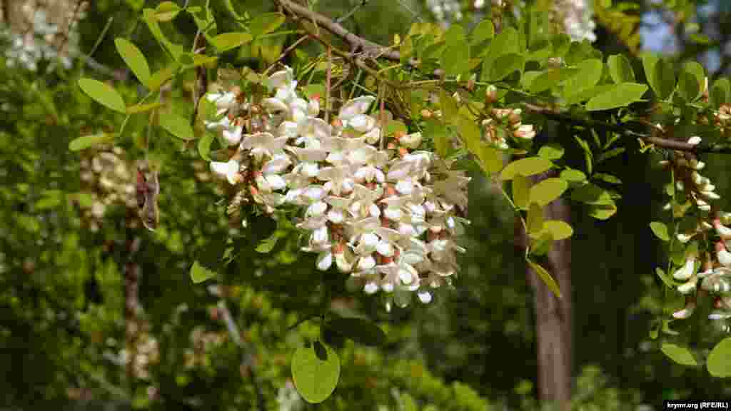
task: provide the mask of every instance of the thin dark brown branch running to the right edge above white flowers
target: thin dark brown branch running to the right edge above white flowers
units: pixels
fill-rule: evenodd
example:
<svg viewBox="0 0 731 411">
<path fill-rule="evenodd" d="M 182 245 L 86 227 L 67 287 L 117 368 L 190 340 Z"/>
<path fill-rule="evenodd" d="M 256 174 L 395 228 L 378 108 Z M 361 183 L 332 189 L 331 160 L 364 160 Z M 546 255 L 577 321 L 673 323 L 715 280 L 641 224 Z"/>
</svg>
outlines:
<svg viewBox="0 0 731 411">
<path fill-rule="evenodd" d="M 561 113 L 557 110 L 541 107 L 539 105 L 532 105 L 526 102 L 523 103 L 523 107 L 533 111 L 534 113 L 540 113 L 542 116 L 545 116 L 545 118 L 550 118 L 554 121 L 558 121 L 561 123 L 570 123 L 584 127 L 609 129 L 613 132 L 616 132 L 618 135 L 622 135 L 624 137 L 639 138 L 645 143 L 654 144 L 659 148 L 667 148 L 669 150 L 677 151 L 688 151 L 693 154 L 731 154 L 731 145 L 729 144 L 693 145 L 684 141 L 669 140 L 667 138 L 655 137 L 654 135 L 648 133 L 636 132 L 630 129 L 629 124 L 610 124 L 603 121 L 592 120 L 591 118 L 577 118 L 574 116 L 569 116 L 568 114 Z"/>
</svg>

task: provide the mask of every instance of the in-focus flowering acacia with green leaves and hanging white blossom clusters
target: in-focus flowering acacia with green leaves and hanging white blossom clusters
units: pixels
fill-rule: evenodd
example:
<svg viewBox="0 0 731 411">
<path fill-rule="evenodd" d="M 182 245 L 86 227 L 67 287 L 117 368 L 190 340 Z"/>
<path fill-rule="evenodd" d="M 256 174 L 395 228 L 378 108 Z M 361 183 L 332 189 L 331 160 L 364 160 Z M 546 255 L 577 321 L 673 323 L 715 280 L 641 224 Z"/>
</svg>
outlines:
<svg viewBox="0 0 731 411">
<path fill-rule="evenodd" d="M 79 86 L 128 119 L 149 116 L 143 145 L 153 170 L 140 172 L 137 182 L 148 229 L 156 228 L 156 193 L 164 187 L 156 178 L 154 137 L 167 132 L 211 162 L 230 186 L 227 211 L 240 224 L 260 214 L 276 220 L 279 229 L 257 251 L 270 251 L 282 233 L 298 233 L 302 250 L 317 253 L 320 271 L 337 269 L 365 293 L 380 292 L 387 309 L 408 304 L 413 295 L 428 303 L 458 275 L 455 251 L 469 224 L 469 178 L 460 169 L 470 167 L 500 187 L 525 235 L 526 263 L 562 298 L 546 256 L 573 230 L 561 219 L 545 219 L 545 208 L 564 197 L 585 204 L 596 219 L 613 216 L 618 192 L 606 187 L 621 182 L 594 169 L 638 142 L 641 152 L 662 156 L 668 175 L 667 216 L 650 226 L 669 250 L 667 267 L 656 272 L 665 295 L 686 299 L 651 333 L 662 338 L 662 351 L 673 361 L 705 364 L 711 374 L 727 377 L 731 339 L 708 352 L 688 345 L 670 324 L 688 319 L 702 301 L 712 307 L 711 320 L 731 316 L 725 244 L 731 214 L 712 205 L 720 196 L 699 173 L 703 156 L 731 151 L 725 143 L 731 83 L 709 83 L 696 62 L 676 70 L 651 54 L 641 56 L 642 70 L 635 72 L 628 56 L 603 56 L 586 39 L 572 41 L 550 20 L 547 3 L 512 13 L 496 1 L 469 34 L 455 24 L 444 30 L 414 23 L 386 46 L 295 1 L 274 0 L 275 12 L 255 16 L 240 14 L 228 1 L 221 10 L 210 2 L 181 7 L 164 1 L 144 9 L 142 19 L 169 66 L 151 72 L 135 44 L 115 39 L 147 91 L 143 99 L 126 105 L 114 88 L 91 78 Z M 600 3 L 602 12 L 613 11 L 611 1 Z M 219 29 L 219 12 L 235 29 Z M 164 25 L 183 15 L 197 27 L 189 45 L 164 34 Z M 299 37 L 270 56 L 262 73 L 216 65 L 241 45 L 286 34 Z M 314 61 L 298 54 L 307 42 L 324 50 Z M 162 90 L 190 73 L 196 76 L 191 107 L 170 108 Z M 116 133 L 80 137 L 72 149 L 124 139 L 126 123 Z M 548 144 L 535 138 L 556 124 L 559 138 Z M 569 145 L 583 151 L 582 170 L 564 162 Z M 512 157 L 507 164 L 506 155 Z M 544 173 L 548 178 L 533 178 Z M 204 282 L 217 268 L 196 261 L 192 279 Z M 363 344 L 382 341 L 382 331 L 368 321 L 328 311 L 336 279 L 344 280 L 322 276 L 321 310 L 306 317 L 319 320 L 322 336 L 292 359 L 295 385 L 311 402 L 332 393 L 340 372 L 328 333 Z"/>
</svg>

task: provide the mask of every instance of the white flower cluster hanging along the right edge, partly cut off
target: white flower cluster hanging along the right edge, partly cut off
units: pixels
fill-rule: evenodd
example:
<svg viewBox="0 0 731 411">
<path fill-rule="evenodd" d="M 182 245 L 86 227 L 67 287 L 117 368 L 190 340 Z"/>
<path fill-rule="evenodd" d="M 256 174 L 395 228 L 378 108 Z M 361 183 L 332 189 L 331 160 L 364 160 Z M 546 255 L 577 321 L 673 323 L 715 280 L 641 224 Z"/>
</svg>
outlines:
<svg viewBox="0 0 731 411">
<path fill-rule="evenodd" d="M 690 144 L 699 144 L 700 137 L 691 137 Z M 677 154 L 677 153 L 676 153 Z M 673 162 L 664 160 L 661 162 L 665 167 L 673 167 L 675 175 L 675 190 L 686 196 L 684 206 L 674 206 L 673 212 L 681 211 L 691 207 L 693 204 L 699 211 L 697 223 L 694 230 L 676 234 L 676 238 L 683 244 L 687 244 L 694 238 L 702 238 L 706 243 L 711 242 L 713 234 L 717 235 L 719 241 L 714 244 L 715 252 L 698 252 L 698 243 L 689 245 L 684 263 L 673 272 L 673 278 L 681 282 L 678 291 L 686 295 L 686 306 L 673 313 L 678 319 L 690 317 L 697 304 L 697 298 L 705 294 L 712 294 L 713 308 L 709 315 L 711 320 L 731 318 L 731 213 L 712 211 L 711 200 L 719 199 L 716 194 L 716 186 L 711 181 L 698 173 L 705 167 L 703 162 L 692 156 L 681 157 Z M 673 208 L 673 204 L 667 203 L 666 209 Z M 700 268 L 700 271 L 698 271 Z"/>
</svg>

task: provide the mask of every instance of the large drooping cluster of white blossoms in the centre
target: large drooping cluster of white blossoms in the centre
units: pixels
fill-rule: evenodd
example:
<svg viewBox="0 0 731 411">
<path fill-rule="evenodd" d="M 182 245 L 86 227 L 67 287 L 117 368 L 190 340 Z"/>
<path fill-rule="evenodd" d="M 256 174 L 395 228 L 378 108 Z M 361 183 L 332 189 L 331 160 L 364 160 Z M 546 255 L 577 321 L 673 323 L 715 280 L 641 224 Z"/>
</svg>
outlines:
<svg viewBox="0 0 731 411">
<path fill-rule="evenodd" d="M 399 305 L 412 293 L 431 301 L 431 289 L 458 269 L 455 252 L 464 251 L 455 236 L 468 223 L 461 215 L 469 178 L 418 150 L 418 132 L 385 144 L 384 124 L 367 114 L 374 97 L 345 102 L 328 124 L 318 117 L 319 98 L 298 97 L 291 69 L 268 83 L 274 95 L 261 102 L 238 90 L 208 95 L 225 116 L 206 125 L 232 148 L 227 162 L 211 162 L 213 173 L 243 186 L 267 212 L 297 209 L 303 251 L 318 254 L 319 270 L 334 265 L 366 293 L 393 293 Z"/>
</svg>

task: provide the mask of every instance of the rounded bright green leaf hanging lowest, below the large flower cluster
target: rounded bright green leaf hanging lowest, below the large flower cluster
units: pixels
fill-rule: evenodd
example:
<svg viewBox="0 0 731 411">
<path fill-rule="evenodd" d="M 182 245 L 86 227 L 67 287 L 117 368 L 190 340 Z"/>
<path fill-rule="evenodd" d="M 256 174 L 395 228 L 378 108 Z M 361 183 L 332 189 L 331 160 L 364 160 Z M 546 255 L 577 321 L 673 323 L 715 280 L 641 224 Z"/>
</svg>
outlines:
<svg viewBox="0 0 731 411">
<path fill-rule="evenodd" d="M 325 401 L 335 391 L 339 378 L 340 359 L 322 342 L 300 347 L 292 355 L 292 380 L 298 393 L 310 404 Z"/>
</svg>

